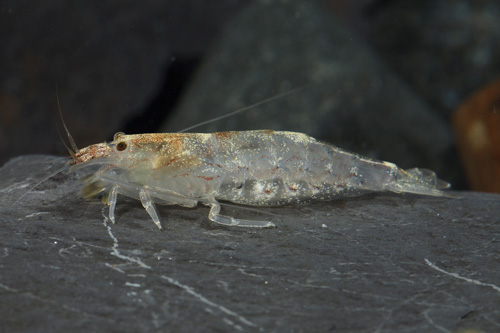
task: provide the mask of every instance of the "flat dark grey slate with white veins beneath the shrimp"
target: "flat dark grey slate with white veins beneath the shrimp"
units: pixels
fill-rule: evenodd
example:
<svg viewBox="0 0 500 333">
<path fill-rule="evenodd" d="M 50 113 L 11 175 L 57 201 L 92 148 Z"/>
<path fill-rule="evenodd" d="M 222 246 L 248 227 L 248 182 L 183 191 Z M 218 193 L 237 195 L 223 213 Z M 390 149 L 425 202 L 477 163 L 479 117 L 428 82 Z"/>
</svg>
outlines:
<svg viewBox="0 0 500 333">
<path fill-rule="evenodd" d="M 159 232 L 123 197 L 111 225 L 99 200 L 79 196 L 78 173 L 29 191 L 64 161 L 22 156 L 0 170 L 2 330 L 500 329 L 499 195 L 231 209 L 273 229 L 160 207 Z"/>
</svg>

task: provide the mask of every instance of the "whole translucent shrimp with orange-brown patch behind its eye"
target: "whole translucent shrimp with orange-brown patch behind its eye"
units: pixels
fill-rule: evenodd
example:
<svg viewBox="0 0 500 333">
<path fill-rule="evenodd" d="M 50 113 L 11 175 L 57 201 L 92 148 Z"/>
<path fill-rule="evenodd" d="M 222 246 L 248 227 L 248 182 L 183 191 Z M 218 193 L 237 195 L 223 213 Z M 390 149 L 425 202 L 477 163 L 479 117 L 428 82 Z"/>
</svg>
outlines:
<svg viewBox="0 0 500 333">
<path fill-rule="evenodd" d="M 220 201 L 250 206 L 328 200 L 356 191 L 443 196 L 450 185 L 425 169 L 343 151 L 302 133 L 271 130 L 218 133 L 117 133 L 72 154 L 72 168 L 102 167 L 84 182 L 87 198 L 103 196 L 115 222 L 118 194 L 139 199 L 162 226 L 155 204 L 210 207 L 216 223 L 272 227 L 220 214 Z"/>
</svg>

